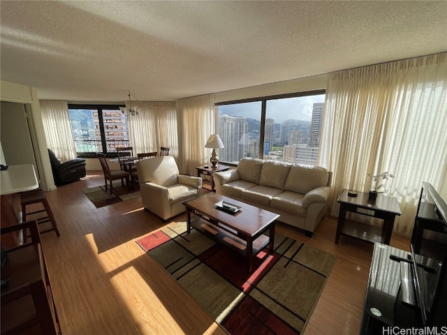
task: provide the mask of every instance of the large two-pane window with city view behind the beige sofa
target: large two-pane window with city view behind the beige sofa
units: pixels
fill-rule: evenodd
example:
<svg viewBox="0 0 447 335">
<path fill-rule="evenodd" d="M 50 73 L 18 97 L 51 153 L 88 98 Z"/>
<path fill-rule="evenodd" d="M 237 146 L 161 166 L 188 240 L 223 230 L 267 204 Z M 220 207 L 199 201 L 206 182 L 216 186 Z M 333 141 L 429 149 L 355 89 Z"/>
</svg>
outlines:
<svg viewBox="0 0 447 335">
<path fill-rule="evenodd" d="M 219 160 L 264 158 L 315 165 L 325 91 L 218 103 Z M 261 145 L 262 143 L 262 145 Z"/>
</svg>

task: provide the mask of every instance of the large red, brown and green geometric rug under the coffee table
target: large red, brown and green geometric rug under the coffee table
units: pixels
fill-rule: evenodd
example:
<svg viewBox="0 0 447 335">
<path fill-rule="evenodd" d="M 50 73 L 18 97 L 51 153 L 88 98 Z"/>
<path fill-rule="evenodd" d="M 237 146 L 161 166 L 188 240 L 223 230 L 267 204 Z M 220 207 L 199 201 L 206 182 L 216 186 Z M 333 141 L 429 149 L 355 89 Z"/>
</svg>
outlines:
<svg viewBox="0 0 447 335">
<path fill-rule="evenodd" d="M 245 259 L 186 223 L 168 225 L 137 243 L 230 334 L 301 334 L 335 256 L 275 234 L 254 271 Z"/>
</svg>

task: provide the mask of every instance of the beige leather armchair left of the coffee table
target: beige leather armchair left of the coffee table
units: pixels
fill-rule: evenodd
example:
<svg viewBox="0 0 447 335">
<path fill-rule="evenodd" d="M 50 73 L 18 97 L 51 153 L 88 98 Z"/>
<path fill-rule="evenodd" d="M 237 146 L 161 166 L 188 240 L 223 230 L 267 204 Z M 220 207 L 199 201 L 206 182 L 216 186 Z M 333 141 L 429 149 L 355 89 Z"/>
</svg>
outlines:
<svg viewBox="0 0 447 335">
<path fill-rule="evenodd" d="M 136 165 L 142 205 L 164 221 L 183 213 L 183 202 L 200 195 L 202 178 L 179 174 L 173 156 L 142 159 Z"/>
</svg>

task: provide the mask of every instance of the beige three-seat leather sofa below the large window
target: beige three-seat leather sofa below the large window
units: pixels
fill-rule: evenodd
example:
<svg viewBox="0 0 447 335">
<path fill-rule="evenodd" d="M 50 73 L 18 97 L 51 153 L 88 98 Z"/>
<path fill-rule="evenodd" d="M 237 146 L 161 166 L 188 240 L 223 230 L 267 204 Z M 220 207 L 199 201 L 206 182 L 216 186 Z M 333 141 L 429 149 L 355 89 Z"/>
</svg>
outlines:
<svg viewBox="0 0 447 335">
<path fill-rule="evenodd" d="M 234 170 L 213 174 L 216 192 L 280 215 L 312 237 L 325 215 L 332 172 L 313 165 L 242 158 Z"/>
</svg>

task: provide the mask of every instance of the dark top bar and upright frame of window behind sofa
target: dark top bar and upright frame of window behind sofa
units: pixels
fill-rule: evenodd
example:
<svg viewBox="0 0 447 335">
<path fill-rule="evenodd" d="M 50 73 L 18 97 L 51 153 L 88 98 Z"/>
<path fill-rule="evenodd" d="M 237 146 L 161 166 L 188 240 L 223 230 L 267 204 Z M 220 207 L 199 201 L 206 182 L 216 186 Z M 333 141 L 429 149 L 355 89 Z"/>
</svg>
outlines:
<svg viewBox="0 0 447 335">
<path fill-rule="evenodd" d="M 277 99 L 284 99 L 284 98 L 300 98 L 302 96 L 318 96 L 321 94 L 326 94 L 325 89 L 315 89 L 312 91 L 300 91 L 295 93 L 286 93 L 286 94 L 275 94 L 272 96 L 260 96 L 256 98 L 247 98 L 247 99 L 238 99 L 233 101 L 221 101 L 219 103 L 214 103 L 215 107 L 223 106 L 223 105 L 235 105 L 237 103 L 253 103 L 256 101 L 261 101 L 261 129 L 259 134 L 259 151 L 258 155 L 259 157 L 262 157 L 264 159 L 264 141 L 265 141 L 265 114 L 267 112 L 267 101 L 270 100 L 277 100 Z M 217 112 L 217 119 L 219 118 L 218 112 Z M 230 165 L 231 163 L 222 162 L 225 163 L 225 165 Z"/>
</svg>

